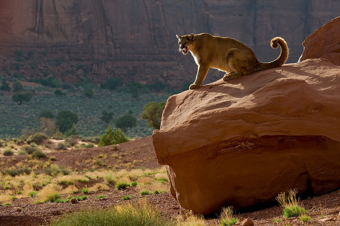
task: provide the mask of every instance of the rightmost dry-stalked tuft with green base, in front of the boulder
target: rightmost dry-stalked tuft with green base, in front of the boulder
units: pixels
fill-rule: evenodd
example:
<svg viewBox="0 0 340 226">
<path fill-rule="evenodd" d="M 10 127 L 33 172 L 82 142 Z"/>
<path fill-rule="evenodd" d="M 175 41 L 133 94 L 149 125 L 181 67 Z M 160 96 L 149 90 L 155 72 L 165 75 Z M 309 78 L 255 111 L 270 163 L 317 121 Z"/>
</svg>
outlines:
<svg viewBox="0 0 340 226">
<path fill-rule="evenodd" d="M 286 195 L 284 192 L 276 197 L 276 201 L 283 207 L 283 213 L 286 218 L 307 214 L 307 210 L 301 206 L 300 199 L 296 199 L 297 190 L 291 189 Z"/>
</svg>

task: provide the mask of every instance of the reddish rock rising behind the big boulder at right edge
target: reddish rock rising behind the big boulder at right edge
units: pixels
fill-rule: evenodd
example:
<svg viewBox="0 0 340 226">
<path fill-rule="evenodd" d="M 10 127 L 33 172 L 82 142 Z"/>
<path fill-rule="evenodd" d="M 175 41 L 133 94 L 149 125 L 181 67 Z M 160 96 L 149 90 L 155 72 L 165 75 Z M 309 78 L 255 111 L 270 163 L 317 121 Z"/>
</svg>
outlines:
<svg viewBox="0 0 340 226">
<path fill-rule="evenodd" d="M 304 50 L 299 62 L 305 59 L 325 58 L 340 66 L 340 17 L 318 28 L 302 45 Z"/>
</svg>

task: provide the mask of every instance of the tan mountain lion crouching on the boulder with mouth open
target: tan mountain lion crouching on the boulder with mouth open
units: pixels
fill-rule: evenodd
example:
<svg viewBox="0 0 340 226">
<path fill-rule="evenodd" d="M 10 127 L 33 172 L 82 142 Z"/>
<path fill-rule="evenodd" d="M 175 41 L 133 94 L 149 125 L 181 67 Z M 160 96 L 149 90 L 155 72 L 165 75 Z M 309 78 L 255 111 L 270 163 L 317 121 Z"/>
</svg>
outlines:
<svg viewBox="0 0 340 226">
<path fill-rule="evenodd" d="M 196 80 L 189 89 L 197 89 L 201 86 L 209 68 L 225 71 L 223 80 L 228 81 L 255 71 L 280 67 L 288 58 L 287 43 L 281 37 L 275 37 L 270 42 L 274 49 L 280 45 L 279 57 L 272 62 L 262 63 L 257 60 L 251 48 L 233 38 L 222 38 L 207 33 L 176 36 L 179 41 L 179 51 L 183 54 L 190 51 L 198 65 Z"/>
</svg>

